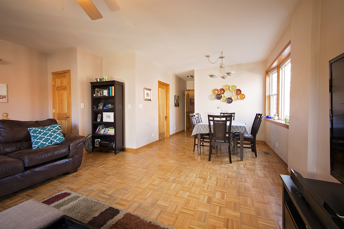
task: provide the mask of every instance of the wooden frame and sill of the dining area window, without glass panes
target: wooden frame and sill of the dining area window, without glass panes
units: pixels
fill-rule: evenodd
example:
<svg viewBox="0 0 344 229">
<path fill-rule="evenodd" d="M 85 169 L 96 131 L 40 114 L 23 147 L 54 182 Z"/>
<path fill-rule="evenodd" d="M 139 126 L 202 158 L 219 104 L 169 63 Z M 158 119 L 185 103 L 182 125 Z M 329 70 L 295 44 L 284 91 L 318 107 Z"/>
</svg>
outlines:
<svg viewBox="0 0 344 229">
<path fill-rule="evenodd" d="M 268 121 L 272 121 L 272 123 L 279 123 L 285 128 L 289 128 L 289 124 L 284 123 L 284 117 L 281 117 L 282 114 L 282 71 L 281 65 L 286 63 L 287 59 L 290 59 L 290 48 L 291 48 L 291 41 L 288 42 L 286 46 L 282 49 L 282 51 L 278 54 L 275 60 L 272 61 L 271 65 L 266 70 L 266 96 L 265 96 L 265 114 L 270 114 L 270 75 L 274 70 L 277 70 L 277 114 L 278 114 L 278 122 L 271 119 L 266 119 Z M 282 118 L 282 120 L 281 120 Z"/>
</svg>

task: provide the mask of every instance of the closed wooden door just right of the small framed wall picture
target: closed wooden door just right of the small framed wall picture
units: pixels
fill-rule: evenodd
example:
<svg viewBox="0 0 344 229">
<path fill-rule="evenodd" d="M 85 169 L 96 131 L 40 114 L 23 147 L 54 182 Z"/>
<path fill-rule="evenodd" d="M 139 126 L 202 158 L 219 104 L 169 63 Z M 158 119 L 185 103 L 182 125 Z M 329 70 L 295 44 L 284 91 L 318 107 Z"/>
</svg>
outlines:
<svg viewBox="0 0 344 229">
<path fill-rule="evenodd" d="M 159 140 L 170 137 L 170 85 L 158 81 Z"/>
</svg>

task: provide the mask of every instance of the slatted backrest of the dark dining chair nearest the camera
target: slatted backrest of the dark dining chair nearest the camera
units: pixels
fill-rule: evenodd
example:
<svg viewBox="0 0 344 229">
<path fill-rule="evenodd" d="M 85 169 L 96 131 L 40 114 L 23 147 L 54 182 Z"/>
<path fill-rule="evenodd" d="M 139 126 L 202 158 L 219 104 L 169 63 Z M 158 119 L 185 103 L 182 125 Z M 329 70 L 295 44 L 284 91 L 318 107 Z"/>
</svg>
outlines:
<svg viewBox="0 0 344 229">
<path fill-rule="evenodd" d="M 211 141 L 229 142 L 230 134 L 228 133 L 230 133 L 230 129 L 232 128 L 232 120 L 233 115 L 208 115 Z"/>
</svg>

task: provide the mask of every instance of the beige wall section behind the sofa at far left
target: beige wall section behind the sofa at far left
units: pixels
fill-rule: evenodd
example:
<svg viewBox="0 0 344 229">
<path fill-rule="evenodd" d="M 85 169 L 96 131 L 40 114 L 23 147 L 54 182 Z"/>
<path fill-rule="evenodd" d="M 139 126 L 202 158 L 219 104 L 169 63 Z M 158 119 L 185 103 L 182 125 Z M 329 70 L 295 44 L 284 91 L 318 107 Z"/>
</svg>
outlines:
<svg viewBox="0 0 344 229">
<path fill-rule="evenodd" d="M 0 83 L 7 84 L 8 96 L 0 114 L 22 121 L 49 118 L 47 55 L 0 40 L 0 58 Z"/>
</svg>

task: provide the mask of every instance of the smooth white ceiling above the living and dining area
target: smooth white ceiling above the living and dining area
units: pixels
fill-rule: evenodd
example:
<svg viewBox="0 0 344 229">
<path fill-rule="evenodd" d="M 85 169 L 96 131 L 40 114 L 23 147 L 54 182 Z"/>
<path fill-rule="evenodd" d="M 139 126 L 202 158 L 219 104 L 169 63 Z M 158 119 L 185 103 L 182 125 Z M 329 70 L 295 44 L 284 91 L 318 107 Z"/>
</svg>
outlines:
<svg viewBox="0 0 344 229">
<path fill-rule="evenodd" d="M 187 79 L 191 70 L 262 61 L 298 0 L 0 0 L 0 39 L 42 53 L 79 47 L 101 57 L 136 51 Z M 63 2 L 63 10 L 62 10 Z M 1 54 L 0 54 L 1 55 Z M 216 64 L 217 66 L 218 64 Z"/>
</svg>

